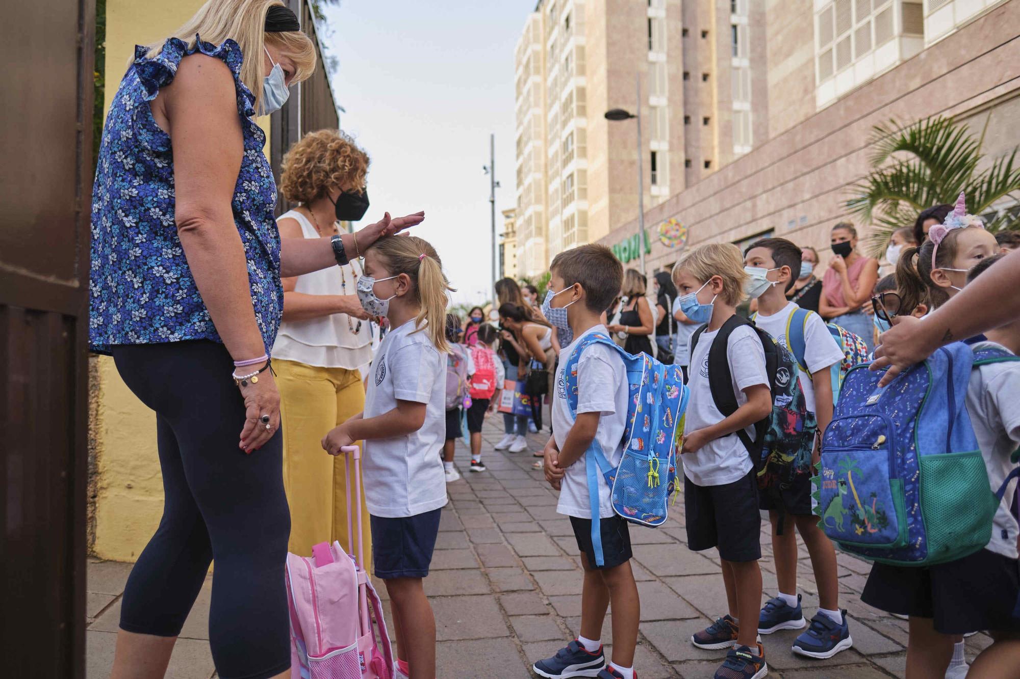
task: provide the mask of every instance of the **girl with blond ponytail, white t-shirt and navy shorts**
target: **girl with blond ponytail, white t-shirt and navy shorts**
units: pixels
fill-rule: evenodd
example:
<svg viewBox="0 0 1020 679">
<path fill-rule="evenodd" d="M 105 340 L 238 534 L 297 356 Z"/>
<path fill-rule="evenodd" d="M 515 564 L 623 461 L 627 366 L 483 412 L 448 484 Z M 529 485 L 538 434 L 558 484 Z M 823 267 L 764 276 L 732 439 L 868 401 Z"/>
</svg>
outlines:
<svg viewBox="0 0 1020 679">
<path fill-rule="evenodd" d="M 398 677 L 436 677 L 436 619 L 422 588 L 447 503 L 440 450 L 446 431 L 448 291 L 436 250 L 416 237 L 365 252 L 361 306 L 392 328 L 379 345 L 365 410 L 322 439 L 330 455 L 365 441 L 365 504 L 372 563 L 386 582 L 398 639 Z"/>
</svg>

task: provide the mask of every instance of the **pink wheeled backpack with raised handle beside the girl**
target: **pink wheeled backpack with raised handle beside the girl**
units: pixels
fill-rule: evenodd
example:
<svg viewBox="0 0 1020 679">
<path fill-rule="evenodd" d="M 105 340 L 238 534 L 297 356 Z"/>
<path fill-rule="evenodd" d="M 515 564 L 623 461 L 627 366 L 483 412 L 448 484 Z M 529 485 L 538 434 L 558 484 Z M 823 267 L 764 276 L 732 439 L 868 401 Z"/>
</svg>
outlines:
<svg viewBox="0 0 1020 679">
<path fill-rule="evenodd" d="M 312 557 L 287 555 L 292 679 L 392 679 L 393 650 L 382 605 L 364 568 L 361 535 L 361 452 L 347 453 L 348 551 L 321 542 Z M 352 512 L 351 458 L 355 494 Z M 356 515 L 358 551 L 352 544 Z M 371 611 L 369 612 L 369 607 Z M 377 637 L 376 637 L 377 632 Z"/>
</svg>

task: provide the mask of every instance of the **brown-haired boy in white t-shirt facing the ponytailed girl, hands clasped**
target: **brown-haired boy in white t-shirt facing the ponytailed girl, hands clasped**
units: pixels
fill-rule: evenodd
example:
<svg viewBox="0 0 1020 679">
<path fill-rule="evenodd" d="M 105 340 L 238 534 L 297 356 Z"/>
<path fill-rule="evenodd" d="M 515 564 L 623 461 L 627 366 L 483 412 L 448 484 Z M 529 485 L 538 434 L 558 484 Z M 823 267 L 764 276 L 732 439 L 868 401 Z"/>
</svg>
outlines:
<svg viewBox="0 0 1020 679">
<path fill-rule="evenodd" d="M 599 517 L 603 566 L 597 565 L 592 540 L 592 504 L 588 491 L 584 454 L 594 441 L 613 466 L 622 456 L 628 386 L 626 367 L 614 348 L 586 347 L 577 361 L 576 418 L 570 414 L 565 371 L 578 344 L 593 332 L 609 336 L 602 312 L 619 294 L 623 267 L 604 246 L 585 245 L 562 252 L 550 267 L 552 278 L 543 305 L 558 326 L 569 325 L 573 342 L 560 351 L 553 395 L 554 436 L 545 450 L 546 479 L 560 490 L 556 508 L 570 517 L 581 554 L 584 584 L 581 593 L 580 635 L 552 658 L 533 666 L 542 677 L 598 677 L 633 679 L 633 655 L 641 618 L 638 586 L 630 570 L 630 533 L 613 512 L 609 486 L 598 474 Z M 556 313 L 566 309 L 566 314 Z M 613 662 L 606 665 L 600 638 L 607 605 L 613 610 Z"/>
</svg>

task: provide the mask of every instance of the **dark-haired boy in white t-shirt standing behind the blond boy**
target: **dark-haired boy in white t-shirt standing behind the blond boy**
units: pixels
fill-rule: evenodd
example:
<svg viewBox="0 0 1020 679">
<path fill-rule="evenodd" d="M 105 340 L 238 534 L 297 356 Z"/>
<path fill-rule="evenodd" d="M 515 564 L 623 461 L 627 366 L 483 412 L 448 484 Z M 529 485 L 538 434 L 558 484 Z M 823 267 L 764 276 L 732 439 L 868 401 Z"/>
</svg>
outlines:
<svg viewBox="0 0 1020 679">
<path fill-rule="evenodd" d="M 797 593 L 797 533 L 801 534 L 818 586 L 818 613 L 811 627 L 797 637 L 794 652 L 809 658 L 831 658 L 850 648 L 853 639 L 839 610 L 839 584 L 836 578 L 835 549 L 822 529 L 818 517 L 811 512 L 812 465 L 818 462 L 817 441 L 832 421 L 832 384 L 830 368 L 843 360 L 843 350 L 832 338 L 825 321 L 815 313 L 803 320 L 794 317 L 800 307 L 786 299 L 786 291 L 800 272 L 801 249 L 785 239 L 762 239 L 744 252 L 745 271 L 751 276 L 747 293 L 758 299 L 758 313 L 752 318 L 755 325 L 765 330 L 780 346 L 790 348 L 787 330 L 793 322 L 802 322 L 804 355 L 794 356 L 800 369 L 801 390 L 808 411 L 818 421 L 818 437 L 810 463 L 795 469 L 788 488 L 781 488 L 778 502 L 774 492 L 759 493 L 760 507 L 768 510 L 772 523 L 772 552 L 778 593 L 766 602 L 758 619 L 758 632 L 771 634 L 780 629 L 803 629 L 807 622 L 801 610 L 801 595 Z M 790 351 L 796 354 L 797 348 Z M 777 506 L 781 504 L 781 507 Z M 783 517 L 782 515 L 789 515 Z M 789 518 L 792 521 L 786 521 Z M 777 526 L 783 525 L 782 534 Z M 797 531 L 793 530 L 797 527 Z"/>
</svg>

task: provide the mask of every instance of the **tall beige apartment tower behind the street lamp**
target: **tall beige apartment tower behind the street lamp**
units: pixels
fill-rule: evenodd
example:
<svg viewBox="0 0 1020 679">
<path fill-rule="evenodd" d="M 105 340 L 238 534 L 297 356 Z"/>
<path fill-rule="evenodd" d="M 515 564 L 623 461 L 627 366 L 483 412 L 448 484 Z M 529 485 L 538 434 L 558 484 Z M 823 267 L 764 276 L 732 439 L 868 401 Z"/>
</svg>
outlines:
<svg viewBox="0 0 1020 679">
<path fill-rule="evenodd" d="M 515 53 L 518 270 L 605 238 L 767 138 L 758 0 L 540 0 Z M 612 108 L 638 109 L 612 122 Z M 757 143 L 756 143 L 757 142 Z"/>
</svg>

